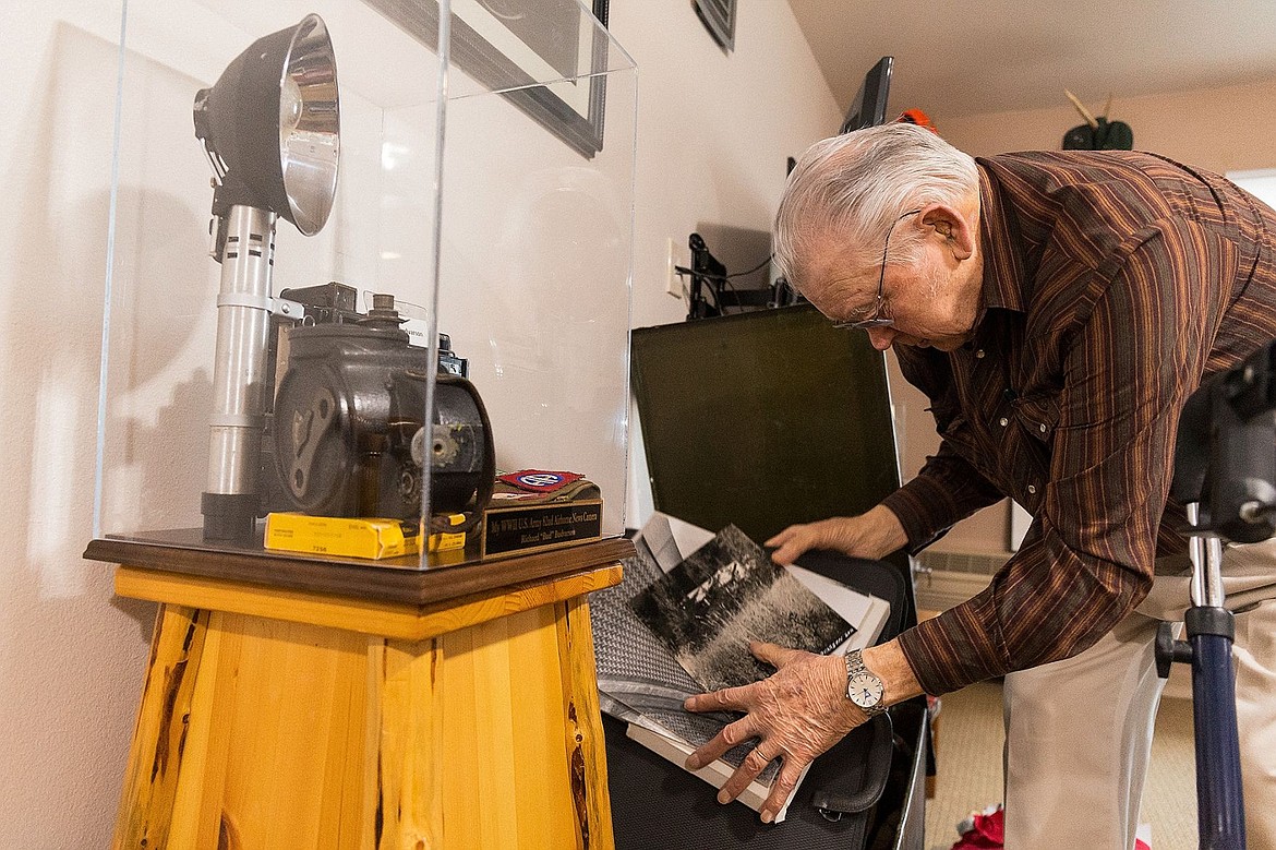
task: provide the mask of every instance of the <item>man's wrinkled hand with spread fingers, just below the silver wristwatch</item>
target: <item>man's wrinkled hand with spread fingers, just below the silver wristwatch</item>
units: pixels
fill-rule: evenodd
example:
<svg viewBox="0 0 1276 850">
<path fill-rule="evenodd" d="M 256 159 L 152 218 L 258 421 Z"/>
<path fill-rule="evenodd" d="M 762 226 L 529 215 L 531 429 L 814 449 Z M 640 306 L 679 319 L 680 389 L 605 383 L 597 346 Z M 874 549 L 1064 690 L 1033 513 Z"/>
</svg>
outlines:
<svg viewBox="0 0 1276 850">
<path fill-rule="evenodd" d="M 771 823 L 798 786 L 803 768 L 866 719 L 846 698 L 846 661 L 842 657 L 759 642 L 750 642 L 749 651 L 775 666 L 775 675 L 740 688 L 697 694 L 684 703 L 688 711 L 746 712 L 692 753 L 686 767 L 699 770 L 736 744 L 759 739 L 722 785 L 717 799 L 730 803 L 767 764 L 783 758 L 762 807 L 762 821 Z"/>
</svg>

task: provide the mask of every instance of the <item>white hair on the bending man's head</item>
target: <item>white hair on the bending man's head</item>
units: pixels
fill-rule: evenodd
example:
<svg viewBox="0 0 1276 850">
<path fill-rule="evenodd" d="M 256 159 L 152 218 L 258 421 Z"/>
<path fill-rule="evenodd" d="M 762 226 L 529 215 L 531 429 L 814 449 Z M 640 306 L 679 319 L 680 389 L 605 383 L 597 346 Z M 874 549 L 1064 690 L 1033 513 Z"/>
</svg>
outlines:
<svg viewBox="0 0 1276 850">
<path fill-rule="evenodd" d="M 776 212 L 776 264 L 801 290 L 817 244 L 836 235 L 863 265 L 875 264 L 887 231 L 929 203 L 958 207 L 979 190 L 975 160 L 915 124 L 865 128 L 810 145 L 785 184 Z M 916 259 L 919 231 L 891 239 L 891 262 Z"/>
</svg>

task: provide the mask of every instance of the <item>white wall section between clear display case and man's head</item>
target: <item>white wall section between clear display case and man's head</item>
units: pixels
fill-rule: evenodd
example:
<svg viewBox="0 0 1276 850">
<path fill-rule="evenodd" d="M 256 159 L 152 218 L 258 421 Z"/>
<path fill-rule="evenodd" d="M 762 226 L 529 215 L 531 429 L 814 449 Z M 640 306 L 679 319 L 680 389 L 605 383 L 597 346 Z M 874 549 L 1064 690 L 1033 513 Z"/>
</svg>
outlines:
<svg viewBox="0 0 1276 850">
<path fill-rule="evenodd" d="M 638 63 L 635 328 L 686 317 L 666 294 L 669 240 L 686 264 L 686 237 L 706 223 L 769 232 L 787 157 L 841 123 L 789 4 L 739 9 L 735 50 L 725 55 L 690 0 L 611 3 L 611 32 Z M 627 514 L 638 527 L 652 505 L 633 412 L 629 451 Z"/>
</svg>

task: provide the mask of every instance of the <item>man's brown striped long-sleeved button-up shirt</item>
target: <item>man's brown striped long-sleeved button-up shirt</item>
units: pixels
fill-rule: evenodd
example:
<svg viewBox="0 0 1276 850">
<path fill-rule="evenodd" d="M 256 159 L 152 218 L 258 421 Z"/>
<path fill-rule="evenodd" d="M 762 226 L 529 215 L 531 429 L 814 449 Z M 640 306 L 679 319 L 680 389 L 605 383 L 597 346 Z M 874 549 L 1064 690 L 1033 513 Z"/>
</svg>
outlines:
<svg viewBox="0 0 1276 850">
<path fill-rule="evenodd" d="M 942 443 L 886 504 L 912 549 L 1003 495 L 1034 523 L 986 591 L 901 636 L 929 693 L 1076 655 L 1143 599 L 1183 549 L 1183 402 L 1276 338 L 1276 213 L 1222 177 L 1113 151 L 977 165 L 984 310 L 957 351 L 897 347 Z"/>
</svg>

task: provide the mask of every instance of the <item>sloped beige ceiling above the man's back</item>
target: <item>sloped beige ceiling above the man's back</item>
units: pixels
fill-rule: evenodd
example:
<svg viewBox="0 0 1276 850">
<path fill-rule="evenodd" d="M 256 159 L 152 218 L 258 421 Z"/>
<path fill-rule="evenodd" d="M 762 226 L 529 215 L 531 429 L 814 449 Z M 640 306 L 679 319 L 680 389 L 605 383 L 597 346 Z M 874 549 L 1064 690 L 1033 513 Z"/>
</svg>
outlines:
<svg viewBox="0 0 1276 850">
<path fill-rule="evenodd" d="M 749 3 L 739 27 L 748 27 Z M 845 110 L 894 56 L 889 111 L 943 117 L 1276 79 L 1276 0 L 789 0 Z M 1236 116 L 1238 123 L 1244 116 Z"/>
</svg>

